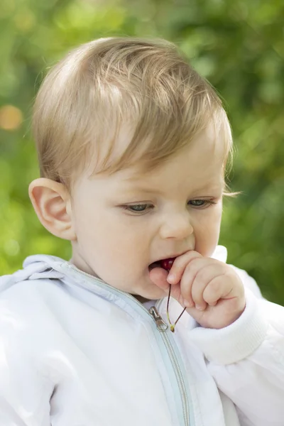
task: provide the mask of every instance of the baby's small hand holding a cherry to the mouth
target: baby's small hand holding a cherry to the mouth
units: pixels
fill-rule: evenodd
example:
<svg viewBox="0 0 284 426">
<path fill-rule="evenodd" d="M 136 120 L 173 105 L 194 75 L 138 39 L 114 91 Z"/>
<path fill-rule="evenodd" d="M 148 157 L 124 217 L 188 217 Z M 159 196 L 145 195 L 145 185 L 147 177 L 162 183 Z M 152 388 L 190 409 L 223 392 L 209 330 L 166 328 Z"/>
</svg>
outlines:
<svg viewBox="0 0 284 426">
<path fill-rule="evenodd" d="M 197 251 L 175 258 L 169 274 L 154 268 L 150 278 L 165 294 L 172 284 L 170 295 L 187 307 L 202 327 L 226 327 L 239 318 L 246 306 L 244 285 L 234 269 Z"/>
</svg>

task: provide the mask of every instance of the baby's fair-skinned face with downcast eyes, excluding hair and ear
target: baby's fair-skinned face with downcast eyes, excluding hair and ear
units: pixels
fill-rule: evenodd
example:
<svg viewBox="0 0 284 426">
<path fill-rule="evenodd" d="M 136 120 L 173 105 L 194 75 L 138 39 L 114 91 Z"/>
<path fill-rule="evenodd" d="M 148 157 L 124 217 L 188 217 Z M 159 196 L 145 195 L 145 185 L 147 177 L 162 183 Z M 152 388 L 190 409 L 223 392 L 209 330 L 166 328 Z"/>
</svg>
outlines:
<svg viewBox="0 0 284 426">
<path fill-rule="evenodd" d="M 219 145 L 222 145 L 219 144 Z M 72 263 L 109 285 L 163 297 L 149 265 L 195 250 L 211 256 L 222 217 L 224 151 L 209 130 L 151 173 L 129 168 L 77 182 Z"/>
</svg>

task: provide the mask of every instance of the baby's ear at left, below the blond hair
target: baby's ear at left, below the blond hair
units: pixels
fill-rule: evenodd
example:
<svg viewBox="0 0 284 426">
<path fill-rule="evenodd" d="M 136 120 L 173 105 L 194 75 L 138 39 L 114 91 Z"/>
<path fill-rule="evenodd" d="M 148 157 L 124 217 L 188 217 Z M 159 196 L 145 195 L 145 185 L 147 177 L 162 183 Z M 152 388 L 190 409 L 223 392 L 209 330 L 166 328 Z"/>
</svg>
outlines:
<svg viewBox="0 0 284 426">
<path fill-rule="evenodd" d="M 76 239 L 70 195 L 62 183 L 35 179 L 28 187 L 28 195 L 40 223 L 51 234 L 70 241 Z"/>
</svg>

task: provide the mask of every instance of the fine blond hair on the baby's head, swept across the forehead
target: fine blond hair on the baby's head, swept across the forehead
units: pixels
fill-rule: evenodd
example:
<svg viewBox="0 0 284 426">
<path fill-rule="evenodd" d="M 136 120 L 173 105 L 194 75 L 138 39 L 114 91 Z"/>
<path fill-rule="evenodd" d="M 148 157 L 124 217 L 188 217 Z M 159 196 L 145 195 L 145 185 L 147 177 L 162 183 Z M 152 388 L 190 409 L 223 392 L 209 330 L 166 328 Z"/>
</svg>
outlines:
<svg viewBox="0 0 284 426">
<path fill-rule="evenodd" d="M 58 62 L 35 99 L 40 175 L 71 190 L 91 162 L 94 174 L 134 164 L 152 170 L 209 123 L 222 133 L 225 167 L 232 145 L 222 102 L 176 45 L 128 37 L 94 40 Z M 114 157 L 125 124 L 131 138 Z"/>
</svg>

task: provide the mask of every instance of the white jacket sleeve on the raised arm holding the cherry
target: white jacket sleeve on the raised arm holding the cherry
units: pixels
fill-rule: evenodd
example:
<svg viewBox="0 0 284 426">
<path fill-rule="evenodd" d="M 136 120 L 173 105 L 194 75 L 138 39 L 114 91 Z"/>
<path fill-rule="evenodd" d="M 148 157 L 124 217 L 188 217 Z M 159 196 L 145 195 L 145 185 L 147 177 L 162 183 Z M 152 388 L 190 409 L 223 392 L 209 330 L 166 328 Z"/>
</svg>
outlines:
<svg viewBox="0 0 284 426">
<path fill-rule="evenodd" d="M 246 289 L 244 313 L 223 329 L 197 327 L 190 339 L 236 405 L 242 426 L 283 426 L 284 307 L 265 300 L 253 278 L 234 269 Z"/>
</svg>

